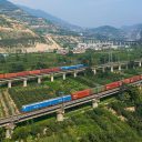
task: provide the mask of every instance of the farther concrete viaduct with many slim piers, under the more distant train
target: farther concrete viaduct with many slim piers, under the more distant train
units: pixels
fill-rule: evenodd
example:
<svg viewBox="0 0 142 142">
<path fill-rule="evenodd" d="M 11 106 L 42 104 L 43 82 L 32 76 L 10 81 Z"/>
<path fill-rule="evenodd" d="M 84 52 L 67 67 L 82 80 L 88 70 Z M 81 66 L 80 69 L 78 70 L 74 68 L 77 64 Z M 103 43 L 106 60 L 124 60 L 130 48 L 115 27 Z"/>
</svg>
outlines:
<svg viewBox="0 0 142 142">
<path fill-rule="evenodd" d="M 122 70 L 122 67 L 125 67 L 125 69 L 128 69 L 129 63 L 130 63 L 129 61 L 110 62 L 110 63 L 92 67 L 91 69 L 94 72 L 94 74 L 97 74 L 97 71 L 100 69 L 102 70 L 102 72 L 105 72 L 106 68 L 110 68 L 111 72 L 114 72 L 114 68 L 118 68 L 119 71 Z M 134 63 L 138 64 L 139 67 L 142 67 L 142 59 L 135 60 Z M 40 84 L 44 77 L 49 77 L 51 79 L 51 82 L 53 82 L 55 75 L 62 75 L 63 80 L 65 80 L 67 74 L 71 73 L 71 74 L 73 74 L 74 78 L 77 78 L 78 73 L 85 71 L 85 69 L 87 68 L 81 68 L 81 69 L 77 69 L 77 70 L 59 71 L 59 72 L 53 72 L 53 73 L 41 73 L 41 74 L 37 74 L 37 75 L 27 75 L 27 77 L 11 78 L 11 79 L 0 79 L 0 84 L 8 84 L 8 88 L 11 88 L 12 82 L 23 81 L 23 87 L 27 87 L 28 80 L 31 80 L 31 79 L 38 79 L 38 83 Z"/>
</svg>

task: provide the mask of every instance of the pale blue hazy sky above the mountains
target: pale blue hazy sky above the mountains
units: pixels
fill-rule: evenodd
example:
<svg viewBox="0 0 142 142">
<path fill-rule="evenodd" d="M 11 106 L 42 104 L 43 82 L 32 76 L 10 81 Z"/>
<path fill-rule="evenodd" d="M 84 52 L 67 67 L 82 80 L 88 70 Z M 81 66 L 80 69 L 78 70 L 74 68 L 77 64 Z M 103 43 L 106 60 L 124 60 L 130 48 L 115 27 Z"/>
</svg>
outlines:
<svg viewBox="0 0 142 142">
<path fill-rule="evenodd" d="M 142 23 L 142 0 L 10 0 L 82 27 Z"/>
</svg>

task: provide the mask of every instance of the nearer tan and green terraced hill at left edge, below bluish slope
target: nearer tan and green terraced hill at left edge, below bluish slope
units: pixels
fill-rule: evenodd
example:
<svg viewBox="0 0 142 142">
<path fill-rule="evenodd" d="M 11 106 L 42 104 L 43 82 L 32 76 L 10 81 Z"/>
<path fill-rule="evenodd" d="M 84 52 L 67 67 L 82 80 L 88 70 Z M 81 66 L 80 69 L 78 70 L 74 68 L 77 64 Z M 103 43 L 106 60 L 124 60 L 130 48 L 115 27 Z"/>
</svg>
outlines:
<svg viewBox="0 0 142 142">
<path fill-rule="evenodd" d="M 28 48 L 43 39 L 21 22 L 0 14 L 0 49 Z"/>
</svg>

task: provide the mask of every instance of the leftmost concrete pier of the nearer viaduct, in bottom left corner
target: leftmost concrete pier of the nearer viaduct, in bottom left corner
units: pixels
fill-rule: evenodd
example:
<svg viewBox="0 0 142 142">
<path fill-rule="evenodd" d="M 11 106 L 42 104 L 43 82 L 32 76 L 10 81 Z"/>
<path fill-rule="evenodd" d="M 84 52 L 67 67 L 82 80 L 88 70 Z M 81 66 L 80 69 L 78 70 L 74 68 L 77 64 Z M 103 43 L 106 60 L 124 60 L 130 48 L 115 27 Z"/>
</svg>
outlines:
<svg viewBox="0 0 142 142">
<path fill-rule="evenodd" d="M 6 139 L 12 138 L 12 133 L 13 133 L 14 128 L 16 128 L 16 125 L 13 123 L 10 123 L 6 126 Z"/>
</svg>

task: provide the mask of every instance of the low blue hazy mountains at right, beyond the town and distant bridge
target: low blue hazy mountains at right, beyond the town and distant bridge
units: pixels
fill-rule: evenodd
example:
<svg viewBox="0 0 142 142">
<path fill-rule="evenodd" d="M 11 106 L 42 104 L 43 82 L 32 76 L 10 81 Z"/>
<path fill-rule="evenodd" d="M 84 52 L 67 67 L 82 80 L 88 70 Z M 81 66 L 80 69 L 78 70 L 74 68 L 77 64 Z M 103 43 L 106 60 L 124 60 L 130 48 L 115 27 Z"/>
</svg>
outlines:
<svg viewBox="0 0 142 142">
<path fill-rule="evenodd" d="M 85 34 L 102 40 L 131 40 L 138 41 L 142 39 L 142 24 L 125 26 L 122 28 L 114 28 L 103 26 L 99 28 L 87 29 Z"/>
</svg>

